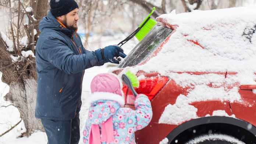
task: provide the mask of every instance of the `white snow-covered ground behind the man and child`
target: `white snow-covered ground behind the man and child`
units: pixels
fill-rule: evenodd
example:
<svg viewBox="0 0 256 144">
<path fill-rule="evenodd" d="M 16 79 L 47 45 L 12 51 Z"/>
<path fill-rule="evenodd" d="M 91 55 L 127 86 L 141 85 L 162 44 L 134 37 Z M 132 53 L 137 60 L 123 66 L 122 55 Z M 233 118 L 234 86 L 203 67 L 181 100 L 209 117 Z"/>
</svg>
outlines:
<svg viewBox="0 0 256 144">
<path fill-rule="evenodd" d="M 97 48 L 102 48 L 104 46 L 109 46 L 113 44 L 118 44 L 121 40 L 125 38 L 124 34 L 118 36 L 107 36 L 107 37 L 99 37 L 94 36 L 89 39 L 89 50 L 96 50 Z M 100 39 L 100 40 L 99 40 Z M 100 44 L 99 44 L 100 43 Z M 122 48 L 124 49 L 125 54 L 128 54 L 129 51 L 136 45 L 136 40 L 130 40 L 125 43 Z M 88 104 L 86 104 L 86 100 L 88 95 L 90 94 L 90 82 L 93 77 L 98 73 L 108 72 L 110 68 L 115 68 L 116 64 L 104 64 L 103 66 L 95 66 L 93 68 L 89 68 L 85 70 L 85 75 L 83 77 L 83 87 L 82 87 L 82 107 L 80 112 L 80 129 L 81 132 L 83 130 L 85 120 L 87 118 Z M 11 126 L 14 126 L 18 123 L 21 118 L 17 108 L 11 105 L 10 102 L 4 100 L 4 96 L 9 91 L 9 86 L 1 81 L 1 72 L 0 72 L 0 134 L 6 132 L 10 129 Z M 9 106 L 8 106 L 9 105 Z M 5 106 L 5 107 L 1 107 Z M 6 107 L 8 106 L 8 107 Z M 0 137 L 0 144 L 46 144 L 47 136 L 44 132 L 35 132 L 30 137 L 22 137 L 18 138 L 22 132 L 25 132 L 24 122 L 21 121 L 13 130 L 4 134 Z M 82 133 L 81 133 L 82 139 Z M 80 143 L 82 144 L 82 140 Z"/>
</svg>

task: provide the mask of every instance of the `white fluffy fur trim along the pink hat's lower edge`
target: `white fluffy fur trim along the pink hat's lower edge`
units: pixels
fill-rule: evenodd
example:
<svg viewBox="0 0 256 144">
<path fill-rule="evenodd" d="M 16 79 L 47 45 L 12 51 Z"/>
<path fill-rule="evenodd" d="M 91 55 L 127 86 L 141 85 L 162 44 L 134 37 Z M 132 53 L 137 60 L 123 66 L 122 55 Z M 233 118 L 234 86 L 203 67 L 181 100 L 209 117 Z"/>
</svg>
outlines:
<svg viewBox="0 0 256 144">
<path fill-rule="evenodd" d="M 108 93 L 108 92 L 95 92 L 91 94 L 87 100 L 89 104 L 91 104 L 94 101 L 98 100 L 112 100 L 117 101 L 121 107 L 124 106 L 124 97 L 114 94 L 114 93 Z"/>
</svg>

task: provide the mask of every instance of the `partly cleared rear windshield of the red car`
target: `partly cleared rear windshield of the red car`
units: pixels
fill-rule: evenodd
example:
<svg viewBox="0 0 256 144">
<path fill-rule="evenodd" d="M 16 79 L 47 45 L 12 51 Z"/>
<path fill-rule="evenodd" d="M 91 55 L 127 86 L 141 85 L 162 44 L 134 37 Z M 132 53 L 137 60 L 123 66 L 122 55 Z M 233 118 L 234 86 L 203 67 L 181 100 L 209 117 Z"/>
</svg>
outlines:
<svg viewBox="0 0 256 144">
<path fill-rule="evenodd" d="M 173 30 L 156 25 L 118 65 L 118 68 L 134 66 L 145 60 L 160 44 L 170 35 Z"/>
</svg>

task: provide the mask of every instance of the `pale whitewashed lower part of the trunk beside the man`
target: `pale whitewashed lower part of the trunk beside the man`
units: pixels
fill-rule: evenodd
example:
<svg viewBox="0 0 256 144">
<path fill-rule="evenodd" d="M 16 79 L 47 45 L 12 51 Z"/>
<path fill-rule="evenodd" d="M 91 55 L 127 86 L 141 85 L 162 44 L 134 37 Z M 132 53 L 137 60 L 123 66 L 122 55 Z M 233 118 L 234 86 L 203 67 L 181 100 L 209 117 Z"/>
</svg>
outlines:
<svg viewBox="0 0 256 144">
<path fill-rule="evenodd" d="M 25 76 L 26 77 L 26 76 Z M 35 130 L 43 131 L 40 119 L 35 118 L 36 87 L 34 78 L 22 78 L 21 82 L 11 82 L 6 100 L 11 101 L 18 108 L 26 127 L 24 136 L 30 136 Z"/>
</svg>

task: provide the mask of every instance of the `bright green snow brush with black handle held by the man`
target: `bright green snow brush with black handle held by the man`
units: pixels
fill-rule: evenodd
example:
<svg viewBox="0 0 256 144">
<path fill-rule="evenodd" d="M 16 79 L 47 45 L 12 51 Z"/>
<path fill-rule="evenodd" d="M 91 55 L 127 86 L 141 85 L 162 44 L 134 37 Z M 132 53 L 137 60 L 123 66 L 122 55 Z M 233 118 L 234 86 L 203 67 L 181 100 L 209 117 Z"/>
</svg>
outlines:
<svg viewBox="0 0 256 144">
<path fill-rule="evenodd" d="M 132 39 L 132 37 L 134 37 L 134 36 L 139 41 L 141 41 L 147 35 L 147 33 L 149 33 L 149 31 L 154 27 L 154 25 L 156 25 L 156 23 L 157 23 L 154 19 L 150 18 L 150 15 L 153 14 L 155 9 L 156 8 L 153 7 L 151 13 L 144 19 L 144 21 L 141 23 L 141 25 L 139 25 L 139 27 L 131 35 L 129 35 L 127 38 L 122 40 L 122 42 L 118 43 L 117 45 L 121 47 L 123 44 L 128 42 L 128 40 Z"/>
</svg>

